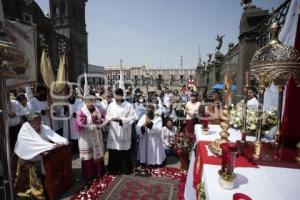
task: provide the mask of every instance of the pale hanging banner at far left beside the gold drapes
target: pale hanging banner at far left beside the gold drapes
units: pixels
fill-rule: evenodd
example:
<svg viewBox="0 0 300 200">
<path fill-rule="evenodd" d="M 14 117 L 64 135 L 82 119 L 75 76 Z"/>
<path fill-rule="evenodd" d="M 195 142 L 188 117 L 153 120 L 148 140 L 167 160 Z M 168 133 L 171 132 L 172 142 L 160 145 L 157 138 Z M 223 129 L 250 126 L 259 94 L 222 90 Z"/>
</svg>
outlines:
<svg viewBox="0 0 300 200">
<path fill-rule="evenodd" d="M 28 61 L 28 68 L 26 68 L 25 73 L 17 75 L 16 78 L 7 79 L 6 86 L 13 87 L 36 82 L 36 26 L 5 19 L 5 29 L 8 31 L 8 37 L 17 48 L 23 51 L 24 57 Z"/>
</svg>

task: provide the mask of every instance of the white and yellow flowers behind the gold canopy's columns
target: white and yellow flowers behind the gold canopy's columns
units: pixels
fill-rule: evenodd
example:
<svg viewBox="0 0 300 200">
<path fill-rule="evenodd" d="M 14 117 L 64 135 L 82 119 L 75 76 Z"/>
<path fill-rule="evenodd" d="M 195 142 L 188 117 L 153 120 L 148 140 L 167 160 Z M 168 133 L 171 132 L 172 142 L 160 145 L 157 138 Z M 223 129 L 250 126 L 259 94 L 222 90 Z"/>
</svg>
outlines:
<svg viewBox="0 0 300 200">
<path fill-rule="evenodd" d="M 235 129 L 243 128 L 243 102 L 238 103 L 230 111 L 229 123 Z M 247 108 L 247 124 L 246 130 L 255 131 L 258 119 L 257 109 L 253 107 Z M 262 130 L 267 131 L 277 124 L 276 110 L 264 111 L 262 115 Z"/>
</svg>

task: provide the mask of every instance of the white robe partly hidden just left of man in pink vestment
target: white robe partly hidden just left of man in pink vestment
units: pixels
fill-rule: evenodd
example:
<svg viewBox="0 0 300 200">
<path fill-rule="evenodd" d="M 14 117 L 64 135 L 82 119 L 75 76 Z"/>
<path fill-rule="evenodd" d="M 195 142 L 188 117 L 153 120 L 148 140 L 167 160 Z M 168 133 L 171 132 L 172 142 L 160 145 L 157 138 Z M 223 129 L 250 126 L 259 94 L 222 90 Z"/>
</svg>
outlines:
<svg viewBox="0 0 300 200">
<path fill-rule="evenodd" d="M 67 139 L 71 140 L 77 140 L 78 139 L 78 130 L 77 130 L 77 125 L 76 125 L 76 118 L 73 117 L 73 113 L 77 113 L 80 111 L 82 106 L 82 100 L 79 98 L 75 99 L 74 104 L 70 104 L 70 114 L 71 118 L 70 119 L 66 119 L 63 122 L 63 136 Z M 62 109 L 63 110 L 63 109 Z M 70 126 L 69 126 L 70 124 Z M 70 127 L 70 132 L 69 132 L 69 127 Z M 70 135 L 70 136 L 69 136 Z"/>
</svg>

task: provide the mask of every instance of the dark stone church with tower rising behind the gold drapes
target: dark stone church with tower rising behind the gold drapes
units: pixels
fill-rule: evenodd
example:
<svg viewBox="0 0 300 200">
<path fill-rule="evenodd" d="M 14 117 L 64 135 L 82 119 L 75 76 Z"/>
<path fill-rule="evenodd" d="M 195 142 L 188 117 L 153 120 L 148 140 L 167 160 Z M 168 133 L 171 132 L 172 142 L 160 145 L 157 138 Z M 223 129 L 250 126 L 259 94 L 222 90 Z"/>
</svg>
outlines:
<svg viewBox="0 0 300 200">
<path fill-rule="evenodd" d="M 35 1 L 3 0 L 5 18 L 37 28 L 37 77 L 41 82 L 41 41 L 46 40 L 54 69 L 58 68 L 58 48 L 61 41 L 67 43 L 68 77 L 77 81 L 77 76 L 87 67 L 87 33 L 85 25 L 86 0 L 49 0 L 50 16 L 46 16 Z"/>
</svg>

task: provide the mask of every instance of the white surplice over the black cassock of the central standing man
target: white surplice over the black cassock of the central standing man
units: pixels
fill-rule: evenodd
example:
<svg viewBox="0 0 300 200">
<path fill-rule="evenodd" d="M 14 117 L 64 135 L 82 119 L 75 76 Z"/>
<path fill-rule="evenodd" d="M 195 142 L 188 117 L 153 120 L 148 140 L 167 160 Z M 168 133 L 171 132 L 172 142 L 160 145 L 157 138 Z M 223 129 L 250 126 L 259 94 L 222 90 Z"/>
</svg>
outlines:
<svg viewBox="0 0 300 200">
<path fill-rule="evenodd" d="M 108 125 L 107 148 L 114 150 L 129 150 L 131 146 L 132 123 L 137 120 L 133 106 L 124 101 L 117 104 L 113 101 L 107 108 L 106 120 L 113 118 L 122 120 L 122 126 L 118 122 L 111 121 Z"/>
</svg>

